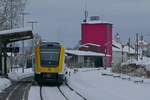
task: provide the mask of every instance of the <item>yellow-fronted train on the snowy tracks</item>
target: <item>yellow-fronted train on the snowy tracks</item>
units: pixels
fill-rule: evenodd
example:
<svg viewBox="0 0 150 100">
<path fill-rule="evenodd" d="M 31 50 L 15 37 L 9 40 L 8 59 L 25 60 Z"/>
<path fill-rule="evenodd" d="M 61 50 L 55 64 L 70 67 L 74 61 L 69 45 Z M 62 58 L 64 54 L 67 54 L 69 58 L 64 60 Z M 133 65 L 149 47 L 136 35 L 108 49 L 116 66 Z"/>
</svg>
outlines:
<svg viewBox="0 0 150 100">
<path fill-rule="evenodd" d="M 64 47 L 58 42 L 40 42 L 35 47 L 34 79 L 37 83 L 58 83 L 66 81 Z"/>
</svg>

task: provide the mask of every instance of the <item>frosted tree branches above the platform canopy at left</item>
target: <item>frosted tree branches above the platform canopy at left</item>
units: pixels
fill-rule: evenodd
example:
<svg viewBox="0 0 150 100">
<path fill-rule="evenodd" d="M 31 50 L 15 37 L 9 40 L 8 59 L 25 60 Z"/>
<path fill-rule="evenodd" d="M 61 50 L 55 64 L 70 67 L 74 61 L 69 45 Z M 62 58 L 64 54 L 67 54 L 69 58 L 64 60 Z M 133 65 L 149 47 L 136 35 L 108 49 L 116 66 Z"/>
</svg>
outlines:
<svg viewBox="0 0 150 100">
<path fill-rule="evenodd" d="M 20 27 L 27 0 L 0 0 L 0 30 Z"/>
</svg>

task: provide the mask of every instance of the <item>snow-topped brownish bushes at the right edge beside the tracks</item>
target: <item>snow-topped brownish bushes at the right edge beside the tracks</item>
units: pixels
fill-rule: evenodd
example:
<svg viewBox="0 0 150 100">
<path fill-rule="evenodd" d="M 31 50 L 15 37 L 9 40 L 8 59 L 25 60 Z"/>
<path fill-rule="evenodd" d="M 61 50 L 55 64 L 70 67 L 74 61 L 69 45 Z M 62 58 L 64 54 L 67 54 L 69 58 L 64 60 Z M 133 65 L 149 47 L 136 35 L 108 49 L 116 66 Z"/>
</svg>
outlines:
<svg viewBox="0 0 150 100">
<path fill-rule="evenodd" d="M 130 59 L 120 65 L 113 66 L 112 72 L 138 77 L 150 77 L 150 58 L 143 57 L 139 58 L 138 61 L 136 59 Z"/>
</svg>

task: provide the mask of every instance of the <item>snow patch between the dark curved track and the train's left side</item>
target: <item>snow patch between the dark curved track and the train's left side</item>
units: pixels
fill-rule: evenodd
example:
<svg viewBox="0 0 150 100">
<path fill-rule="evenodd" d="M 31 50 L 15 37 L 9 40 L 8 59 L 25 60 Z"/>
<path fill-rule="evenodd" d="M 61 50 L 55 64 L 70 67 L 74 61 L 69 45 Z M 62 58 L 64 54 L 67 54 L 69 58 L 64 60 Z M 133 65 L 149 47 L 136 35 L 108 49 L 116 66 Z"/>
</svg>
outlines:
<svg viewBox="0 0 150 100">
<path fill-rule="evenodd" d="M 8 77 L 12 80 L 20 80 L 33 75 L 32 68 L 24 69 L 24 73 L 22 72 L 22 68 L 15 69 L 12 72 L 8 73 Z"/>
</svg>

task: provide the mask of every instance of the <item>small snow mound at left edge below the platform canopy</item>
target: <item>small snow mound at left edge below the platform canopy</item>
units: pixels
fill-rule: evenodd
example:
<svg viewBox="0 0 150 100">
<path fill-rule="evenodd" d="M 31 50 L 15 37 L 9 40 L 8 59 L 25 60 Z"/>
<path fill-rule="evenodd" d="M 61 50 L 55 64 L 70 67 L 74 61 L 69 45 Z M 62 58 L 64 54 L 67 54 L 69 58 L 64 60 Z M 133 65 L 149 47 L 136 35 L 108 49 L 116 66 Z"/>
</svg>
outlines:
<svg viewBox="0 0 150 100">
<path fill-rule="evenodd" d="M 11 85 L 10 80 L 0 77 L 0 92 Z"/>
</svg>

